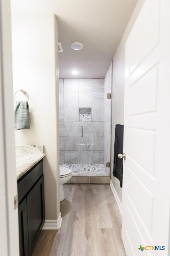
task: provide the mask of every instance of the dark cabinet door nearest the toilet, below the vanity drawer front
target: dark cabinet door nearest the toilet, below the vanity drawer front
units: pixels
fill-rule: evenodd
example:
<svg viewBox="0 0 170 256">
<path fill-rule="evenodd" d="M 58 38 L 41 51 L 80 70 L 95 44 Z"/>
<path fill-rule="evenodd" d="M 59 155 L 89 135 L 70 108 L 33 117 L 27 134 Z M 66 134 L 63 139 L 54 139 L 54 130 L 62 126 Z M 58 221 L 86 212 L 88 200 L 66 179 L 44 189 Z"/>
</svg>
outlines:
<svg viewBox="0 0 170 256">
<path fill-rule="evenodd" d="M 45 221 L 43 176 L 27 195 L 27 215 L 29 252 L 31 256 Z"/>
</svg>

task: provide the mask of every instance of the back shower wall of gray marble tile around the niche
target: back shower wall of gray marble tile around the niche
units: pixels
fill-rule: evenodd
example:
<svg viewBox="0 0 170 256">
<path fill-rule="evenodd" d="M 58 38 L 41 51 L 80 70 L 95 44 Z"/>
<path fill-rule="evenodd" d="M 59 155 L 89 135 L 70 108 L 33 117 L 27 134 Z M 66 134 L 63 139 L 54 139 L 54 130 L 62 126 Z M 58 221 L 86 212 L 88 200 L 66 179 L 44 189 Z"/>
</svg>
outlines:
<svg viewBox="0 0 170 256">
<path fill-rule="evenodd" d="M 91 108 L 91 122 L 79 108 Z M 104 79 L 59 79 L 59 121 L 60 164 L 104 163 Z"/>
</svg>

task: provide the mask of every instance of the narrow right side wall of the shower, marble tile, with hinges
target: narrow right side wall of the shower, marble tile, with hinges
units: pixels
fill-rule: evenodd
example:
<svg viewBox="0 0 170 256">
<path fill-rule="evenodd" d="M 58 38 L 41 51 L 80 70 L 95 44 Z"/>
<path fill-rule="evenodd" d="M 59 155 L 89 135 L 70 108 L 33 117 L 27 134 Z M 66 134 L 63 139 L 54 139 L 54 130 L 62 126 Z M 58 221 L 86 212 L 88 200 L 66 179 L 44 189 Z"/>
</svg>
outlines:
<svg viewBox="0 0 170 256">
<path fill-rule="evenodd" d="M 110 162 L 111 154 L 111 99 L 107 99 L 107 94 L 111 92 L 112 62 L 104 79 L 104 167 L 108 174 L 110 174 L 110 168 L 106 167 L 106 163 Z"/>
</svg>

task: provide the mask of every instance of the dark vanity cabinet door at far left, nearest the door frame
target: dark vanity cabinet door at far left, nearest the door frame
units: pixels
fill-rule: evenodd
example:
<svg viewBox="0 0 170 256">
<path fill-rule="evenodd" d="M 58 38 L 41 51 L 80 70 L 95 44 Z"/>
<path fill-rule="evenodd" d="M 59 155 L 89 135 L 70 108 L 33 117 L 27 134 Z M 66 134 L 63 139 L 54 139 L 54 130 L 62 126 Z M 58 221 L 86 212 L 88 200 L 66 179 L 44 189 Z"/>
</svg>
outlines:
<svg viewBox="0 0 170 256">
<path fill-rule="evenodd" d="M 27 220 L 27 199 L 18 207 L 19 219 L 19 252 L 20 256 L 29 256 L 28 244 L 28 220 Z"/>
</svg>

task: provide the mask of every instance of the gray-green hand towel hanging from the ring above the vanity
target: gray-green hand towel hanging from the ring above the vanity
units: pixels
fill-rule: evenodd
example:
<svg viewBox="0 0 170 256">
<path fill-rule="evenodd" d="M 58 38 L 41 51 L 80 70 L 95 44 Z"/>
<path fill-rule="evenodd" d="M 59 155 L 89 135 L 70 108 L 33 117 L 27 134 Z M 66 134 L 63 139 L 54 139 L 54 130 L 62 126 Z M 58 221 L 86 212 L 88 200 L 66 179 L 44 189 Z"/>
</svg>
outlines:
<svg viewBox="0 0 170 256">
<path fill-rule="evenodd" d="M 27 101 L 16 101 L 15 130 L 30 129 L 29 105 Z"/>
</svg>

